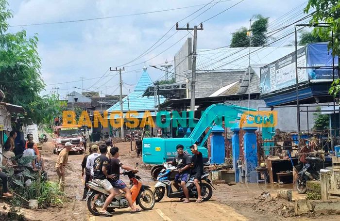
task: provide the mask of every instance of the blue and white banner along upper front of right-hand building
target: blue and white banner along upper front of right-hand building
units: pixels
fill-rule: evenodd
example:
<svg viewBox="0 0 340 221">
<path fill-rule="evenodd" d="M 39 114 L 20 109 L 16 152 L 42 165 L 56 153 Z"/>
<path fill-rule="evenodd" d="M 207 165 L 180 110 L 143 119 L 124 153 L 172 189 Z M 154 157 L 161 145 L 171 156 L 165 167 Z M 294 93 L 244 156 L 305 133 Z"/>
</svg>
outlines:
<svg viewBox="0 0 340 221">
<path fill-rule="evenodd" d="M 337 66 L 337 56 L 334 61 L 334 65 Z M 333 70 L 331 67 L 332 51 L 328 51 L 327 43 L 309 43 L 307 46 L 298 49 L 297 66 L 316 67 L 298 69 L 299 83 L 307 82 L 308 80 L 333 79 Z M 260 88 L 262 95 L 296 85 L 295 52 L 261 67 L 260 70 Z M 335 70 L 335 77 L 338 78 L 337 70 Z"/>
</svg>

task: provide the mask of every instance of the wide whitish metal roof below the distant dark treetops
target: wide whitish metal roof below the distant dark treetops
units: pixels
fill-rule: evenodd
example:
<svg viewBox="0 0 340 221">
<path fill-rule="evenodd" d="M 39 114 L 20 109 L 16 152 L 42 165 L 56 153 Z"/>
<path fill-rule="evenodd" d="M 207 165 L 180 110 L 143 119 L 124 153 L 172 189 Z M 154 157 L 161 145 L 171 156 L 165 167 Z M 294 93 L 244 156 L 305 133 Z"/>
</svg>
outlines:
<svg viewBox="0 0 340 221">
<path fill-rule="evenodd" d="M 299 46 L 298 48 L 300 48 Z M 251 66 L 272 63 L 291 52 L 295 47 L 251 47 Z M 221 60 L 223 59 L 223 60 Z M 221 60 L 221 61 L 220 61 Z M 249 47 L 226 47 L 219 49 L 198 49 L 196 69 L 239 70 L 249 66 Z"/>
</svg>

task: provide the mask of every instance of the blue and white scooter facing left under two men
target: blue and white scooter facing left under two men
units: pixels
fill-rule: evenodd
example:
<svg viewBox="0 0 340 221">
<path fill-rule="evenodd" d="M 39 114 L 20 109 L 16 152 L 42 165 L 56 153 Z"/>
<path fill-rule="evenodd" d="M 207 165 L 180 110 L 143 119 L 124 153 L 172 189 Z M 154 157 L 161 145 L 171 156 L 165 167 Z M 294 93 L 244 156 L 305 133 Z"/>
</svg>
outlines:
<svg viewBox="0 0 340 221">
<path fill-rule="evenodd" d="M 171 166 L 167 163 L 164 164 L 165 169 L 163 169 L 160 174 L 157 177 L 157 183 L 154 186 L 154 197 L 156 202 L 159 202 L 163 199 L 164 195 L 165 195 L 165 191 L 167 191 L 167 196 L 169 198 L 185 198 L 183 189 L 180 187 L 177 191 L 172 191 L 171 188 L 171 181 L 170 176 L 173 172 L 175 172 L 177 170 L 176 167 Z M 201 195 L 203 198 L 203 201 L 208 201 L 213 193 L 212 188 L 213 185 L 211 183 L 211 181 L 208 179 L 208 175 L 209 173 L 204 173 L 201 177 L 201 182 L 200 182 L 200 186 L 201 186 Z M 205 181 L 205 182 L 202 182 Z M 197 189 L 196 186 L 194 184 L 194 176 L 190 176 L 189 181 L 186 184 L 187 189 L 189 191 L 189 198 L 198 198 L 198 193 L 197 193 Z M 215 189 L 215 188 L 214 188 Z"/>
</svg>

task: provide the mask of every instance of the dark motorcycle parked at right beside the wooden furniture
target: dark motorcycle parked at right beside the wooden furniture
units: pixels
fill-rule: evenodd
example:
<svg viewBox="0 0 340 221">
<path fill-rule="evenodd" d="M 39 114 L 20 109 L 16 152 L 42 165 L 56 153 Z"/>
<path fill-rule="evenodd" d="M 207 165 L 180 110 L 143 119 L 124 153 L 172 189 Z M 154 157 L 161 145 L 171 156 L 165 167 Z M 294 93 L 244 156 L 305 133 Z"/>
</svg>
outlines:
<svg viewBox="0 0 340 221">
<path fill-rule="evenodd" d="M 325 169 L 327 166 L 332 166 L 332 162 L 324 161 L 317 157 L 306 157 L 307 163 L 299 168 L 297 166 L 298 176 L 295 180 L 296 190 L 303 194 L 307 191 L 307 181 L 308 180 L 319 180 L 320 179 L 320 169 Z M 300 169 L 300 170 L 299 170 Z"/>
</svg>

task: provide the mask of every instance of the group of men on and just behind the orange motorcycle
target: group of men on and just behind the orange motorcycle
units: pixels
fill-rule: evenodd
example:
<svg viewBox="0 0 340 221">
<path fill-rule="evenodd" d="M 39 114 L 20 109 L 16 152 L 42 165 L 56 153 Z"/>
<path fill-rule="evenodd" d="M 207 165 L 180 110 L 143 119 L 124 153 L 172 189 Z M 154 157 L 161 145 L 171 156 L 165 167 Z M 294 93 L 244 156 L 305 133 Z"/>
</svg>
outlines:
<svg viewBox="0 0 340 221">
<path fill-rule="evenodd" d="M 130 189 L 121 179 L 119 179 L 120 168 L 136 172 L 134 168 L 120 162 L 119 148 L 113 146 L 111 140 L 106 140 L 105 144 L 101 144 L 99 147 L 97 145 L 92 145 L 89 152 L 90 154 L 86 155 L 82 162 L 82 176 L 85 174 L 83 200 L 85 200 L 88 191 L 86 183 L 93 181 L 101 185 L 110 193 L 106 198 L 101 211 L 99 211 L 100 214 L 111 216 L 106 209 L 117 194 L 115 188 L 121 189 L 126 193 L 126 199 L 131 207 L 131 212 L 140 212 L 140 209 L 136 208 L 133 204 Z M 93 209 L 96 210 L 95 207 L 93 207 Z"/>
</svg>

